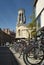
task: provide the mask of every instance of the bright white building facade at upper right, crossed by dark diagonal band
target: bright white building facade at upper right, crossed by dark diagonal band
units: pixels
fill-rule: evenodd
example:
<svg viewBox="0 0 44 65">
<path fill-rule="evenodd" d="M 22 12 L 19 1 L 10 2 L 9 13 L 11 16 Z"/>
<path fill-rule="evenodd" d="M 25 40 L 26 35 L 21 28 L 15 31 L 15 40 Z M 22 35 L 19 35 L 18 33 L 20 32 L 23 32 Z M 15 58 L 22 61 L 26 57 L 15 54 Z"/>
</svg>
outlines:
<svg viewBox="0 0 44 65">
<path fill-rule="evenodd" d="M 43 27 L 44 26 L 44 0 L 35 0 L 34 3 L 34 8 L 35 8 L 35 16 L 36 16 L 36 21 L 37 21 L 37 30 L 38 27 Z"/>
</svg>

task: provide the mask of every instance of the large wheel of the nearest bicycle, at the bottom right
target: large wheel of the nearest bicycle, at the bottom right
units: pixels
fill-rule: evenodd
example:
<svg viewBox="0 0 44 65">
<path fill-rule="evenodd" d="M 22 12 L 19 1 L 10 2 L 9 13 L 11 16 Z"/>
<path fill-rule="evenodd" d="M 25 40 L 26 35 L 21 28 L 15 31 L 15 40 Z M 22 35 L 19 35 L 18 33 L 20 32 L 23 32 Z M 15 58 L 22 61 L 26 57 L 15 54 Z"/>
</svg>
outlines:
<svg viewBox="0 0 44 65">
<path fill-rule="evenodd" d="M 38 65 L 42 62 L 43 60 L 43 51 L 40 50 L 38 55 L 35 57 L 35 50 L 34 47 L 31 48 L 31 50 L 26 54 L 26 61 L 28 62 L 28 64 L 32 64 L 32 65 Z"/>
</svg>

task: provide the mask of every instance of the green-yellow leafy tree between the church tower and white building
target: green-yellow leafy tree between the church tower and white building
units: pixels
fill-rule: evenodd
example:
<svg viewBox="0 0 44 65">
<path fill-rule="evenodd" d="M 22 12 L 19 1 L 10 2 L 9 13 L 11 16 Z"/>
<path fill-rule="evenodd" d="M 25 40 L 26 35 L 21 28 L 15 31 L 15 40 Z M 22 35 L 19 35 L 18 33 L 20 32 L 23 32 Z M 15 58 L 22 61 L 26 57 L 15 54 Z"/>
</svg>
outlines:
<svg viewBox="0 0 44 65">
<path fill-rule="evenodd" d="M 31 22 L 29 24 L 27 24 L 28 28 L 31 28 L 33 31 L 31 32 L 32 37 L 34 37 L 36 35 L 36 21 L 35 21 L 35 13 L 33 11 L 32 15 L 30 16 L 31 18 Z"/>
</svg>

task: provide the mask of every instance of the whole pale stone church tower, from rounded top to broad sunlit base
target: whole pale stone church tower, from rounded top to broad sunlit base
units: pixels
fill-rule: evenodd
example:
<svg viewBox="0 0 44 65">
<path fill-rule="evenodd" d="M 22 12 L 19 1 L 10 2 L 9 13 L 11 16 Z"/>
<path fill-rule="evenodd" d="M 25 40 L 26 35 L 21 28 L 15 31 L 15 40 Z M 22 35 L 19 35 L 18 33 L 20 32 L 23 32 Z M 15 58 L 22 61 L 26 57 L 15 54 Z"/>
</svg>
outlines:
<svg viewBox="0 0 44 65">
<path fill-rule="evenodd" d="M 28 38 L 28 28 L 26 27 L 25 10 L 18 10 L 18 19 L 16 25 L 16 38 Z"/>
</svg>

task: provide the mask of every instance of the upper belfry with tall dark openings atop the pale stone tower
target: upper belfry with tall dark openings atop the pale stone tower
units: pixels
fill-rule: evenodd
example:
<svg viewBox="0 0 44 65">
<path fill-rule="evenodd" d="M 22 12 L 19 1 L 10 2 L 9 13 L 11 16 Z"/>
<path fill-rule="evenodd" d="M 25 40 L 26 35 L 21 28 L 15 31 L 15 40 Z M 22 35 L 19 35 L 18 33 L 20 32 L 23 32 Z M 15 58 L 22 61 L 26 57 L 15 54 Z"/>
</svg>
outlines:
<svg viewBox="0 0 44 65">
<path fill-rule="evenodd" d="M 17 22 L 17 25 L 21 25 L 21 24 L 25 24 L 25 23 L 26 23 L 25 10 L 20 9 L 18 11 L 18 22 Z"/>
</svg>

